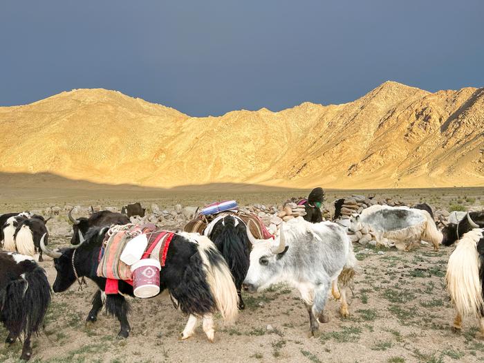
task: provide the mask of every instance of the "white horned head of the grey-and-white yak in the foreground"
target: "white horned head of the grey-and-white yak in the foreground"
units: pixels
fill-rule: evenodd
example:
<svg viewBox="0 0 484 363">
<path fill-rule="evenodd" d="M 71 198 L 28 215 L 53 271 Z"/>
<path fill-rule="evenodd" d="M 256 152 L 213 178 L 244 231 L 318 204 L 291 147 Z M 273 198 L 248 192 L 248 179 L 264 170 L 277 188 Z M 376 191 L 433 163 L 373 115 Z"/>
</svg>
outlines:
<svg viewBox="0 0 484 363">
<path fill-rule="evenodd" d="M 243 288 L 248 292 L 263 290 L 276 283 L 283 270 L 284 254 L 288 251 L 286 236 L 281 226 L 279 236 L 274 239 L 256 239 L 247 224 L 247 235 L 252 243 L 250 266 L 243 281 Z"/>
</svg>

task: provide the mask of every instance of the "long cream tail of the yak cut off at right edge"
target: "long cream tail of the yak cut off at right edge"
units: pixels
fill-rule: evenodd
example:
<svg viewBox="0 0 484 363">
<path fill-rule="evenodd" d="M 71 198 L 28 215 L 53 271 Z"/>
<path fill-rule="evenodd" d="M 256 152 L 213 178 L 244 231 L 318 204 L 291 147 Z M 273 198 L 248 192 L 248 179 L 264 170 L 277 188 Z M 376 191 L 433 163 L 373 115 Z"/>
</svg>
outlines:
<svg viewBox="0 0 484 363">
<path fill-rule="evenodd" d="M 464 234 L 447 263 L 447 291 L 457 312 L 463 317 L 477 317 L 478 312 L 484 308 L 477 251 L 477 243 L 481 238 L 483 232 L 478 229 Z"/>
</svg>

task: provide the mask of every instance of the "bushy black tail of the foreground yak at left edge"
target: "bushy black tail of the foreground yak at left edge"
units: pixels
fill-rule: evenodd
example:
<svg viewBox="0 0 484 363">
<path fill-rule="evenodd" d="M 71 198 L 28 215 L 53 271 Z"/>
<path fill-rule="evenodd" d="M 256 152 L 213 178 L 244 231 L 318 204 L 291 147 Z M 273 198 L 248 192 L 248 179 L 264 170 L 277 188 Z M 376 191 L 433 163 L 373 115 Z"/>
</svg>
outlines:
<svg viewBox="0 0 484 363">
<path fill-rule="evenodd" d="M 0 293 L 0 302 L 4 324 L 10 333 L 38 335 L 50 304 L 45 270 L 35 266 L 34 270 L 8 283 Z"/>
</svg>

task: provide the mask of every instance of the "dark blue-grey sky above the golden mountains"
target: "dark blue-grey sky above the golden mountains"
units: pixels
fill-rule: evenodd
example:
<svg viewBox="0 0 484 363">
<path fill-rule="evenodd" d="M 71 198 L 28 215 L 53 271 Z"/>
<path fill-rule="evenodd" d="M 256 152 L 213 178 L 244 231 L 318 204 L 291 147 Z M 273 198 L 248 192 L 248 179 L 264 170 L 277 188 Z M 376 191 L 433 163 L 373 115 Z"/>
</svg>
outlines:
<svg viewBox="0 0 484 363">
<path fill-rule="evenodd" d="M 115 89 L 189 115 L 484 86 L 484 1 L 1 1 L 0 105 Z"/>
</svg>

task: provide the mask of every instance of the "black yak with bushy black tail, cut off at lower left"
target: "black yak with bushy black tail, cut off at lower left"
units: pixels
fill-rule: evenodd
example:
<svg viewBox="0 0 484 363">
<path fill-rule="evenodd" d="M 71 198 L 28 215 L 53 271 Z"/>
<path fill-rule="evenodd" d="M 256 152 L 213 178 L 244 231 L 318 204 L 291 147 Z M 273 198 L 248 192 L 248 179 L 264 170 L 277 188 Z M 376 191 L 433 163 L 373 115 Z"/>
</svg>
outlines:
<svg viewBox="0 0 484 363">
<path fill-rule="evenodd" d="M 46 272 L 32 257 L 0 252 L 0 322 L 8 330 L 7 344 L 24 335 L 21 359 L 32 356 L 30 338 L 38 334 L 50 304 Z"/>
</svg>

